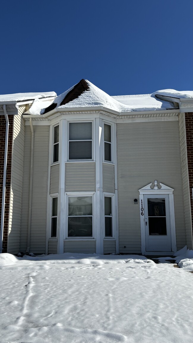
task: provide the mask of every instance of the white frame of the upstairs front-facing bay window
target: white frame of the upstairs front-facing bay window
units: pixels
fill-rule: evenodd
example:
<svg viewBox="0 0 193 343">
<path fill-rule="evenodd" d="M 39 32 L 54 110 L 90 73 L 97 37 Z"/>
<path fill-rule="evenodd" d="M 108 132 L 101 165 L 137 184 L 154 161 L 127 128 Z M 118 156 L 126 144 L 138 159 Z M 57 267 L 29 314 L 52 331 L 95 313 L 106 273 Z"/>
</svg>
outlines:
<svg viewBox="0 0 193 343">
<path fill-rule="evenodd" d="M 70 133 L 70 130 L 69 130 L 69 124 L 70 123 L 85 123 L 85 122 L 91 122 L 92 123 L 92 140 L 91 139 L 85 139 L 85 140 L 69 140 L 69 133 Z M 94 132 L 95 132 L 95 125 L 94 125 L 94 120 L 93 119 L 85 119 L 85 120 L 68 120 L 68 135 L 67 135 L 67 146 L 68 146 L 68 149 L 67 149 L 67 162 L 92 162 L 94 161 L 94 151 L 95 151 L 95 135 L 94 135 Z M 92 158 L 85 158 L 85 159 L 69 159 L 69 142 L 78 142 L 78 141 L 91 141 L 92 142 Z"/>
</svg>

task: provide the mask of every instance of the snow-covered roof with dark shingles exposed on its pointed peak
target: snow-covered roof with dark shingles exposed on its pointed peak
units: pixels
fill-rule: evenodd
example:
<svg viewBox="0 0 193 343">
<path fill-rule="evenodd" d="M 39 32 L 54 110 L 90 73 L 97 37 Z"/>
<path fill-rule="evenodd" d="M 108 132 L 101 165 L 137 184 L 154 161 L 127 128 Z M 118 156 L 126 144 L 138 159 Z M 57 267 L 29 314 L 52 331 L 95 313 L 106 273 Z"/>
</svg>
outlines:
<svg viewBox="0 0 193 343">
<path fill-rule="evenodd" d="M 161 90 L 152 94 L 110 96 L 90 81 L 82 79 L 66 92 L 57 96 L 52 104 L 45 104 L 42 99 L 36 99 L 26 114 L 44 114 L 58 108 L 105 107 L 119 113 L 134 111 L 156 111 L 174 109 L 172 102 L 159 99 L 164 97 L 193 98 L 192 91 Z M 45 106 L 47 105 L 47 106 Z"/>
</svg>

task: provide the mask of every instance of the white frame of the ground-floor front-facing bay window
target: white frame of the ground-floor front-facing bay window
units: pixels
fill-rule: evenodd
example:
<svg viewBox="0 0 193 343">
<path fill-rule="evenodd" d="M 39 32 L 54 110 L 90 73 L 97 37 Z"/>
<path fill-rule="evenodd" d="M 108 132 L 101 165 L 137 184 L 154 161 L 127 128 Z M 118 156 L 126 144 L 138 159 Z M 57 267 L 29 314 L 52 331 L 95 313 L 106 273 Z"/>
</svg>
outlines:
<svg viewBox="0 0 193 343">
<path fill-rule="evenodd" d="M 70 197 L 92 197 L 92 236 L 70 236 L 68 237 L 68 198 Z M 81 217 L 81 216 L 79 216 Z M 66 193 L 66 230 L 65 240 L 93 240 L 96 238 L 95 232 L 95 193 L 94 192 L 68 192 Z"/>
</svg>

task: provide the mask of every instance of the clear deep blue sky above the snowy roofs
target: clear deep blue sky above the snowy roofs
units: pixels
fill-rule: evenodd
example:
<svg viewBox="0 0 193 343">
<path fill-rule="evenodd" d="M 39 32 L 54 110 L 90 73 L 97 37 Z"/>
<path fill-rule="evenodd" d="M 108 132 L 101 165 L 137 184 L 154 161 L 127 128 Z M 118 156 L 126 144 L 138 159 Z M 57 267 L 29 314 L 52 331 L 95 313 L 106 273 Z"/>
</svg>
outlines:
<svg viewBox="0 0 193 343">
<path fill-rule="evenodd" d="M 1 3 L 0 94 L 193 90 L 192 0 Z"/>
</svg>

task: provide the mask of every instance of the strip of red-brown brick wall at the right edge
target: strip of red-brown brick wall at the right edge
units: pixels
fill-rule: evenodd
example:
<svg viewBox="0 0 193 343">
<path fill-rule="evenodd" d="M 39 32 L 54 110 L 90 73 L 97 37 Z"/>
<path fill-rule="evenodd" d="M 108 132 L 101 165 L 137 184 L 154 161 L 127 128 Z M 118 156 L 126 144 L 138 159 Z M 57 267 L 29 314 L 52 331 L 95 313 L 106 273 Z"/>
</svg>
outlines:
<svg viewBox="0 0 193 343">
<path fill-rule="evenodd" d="M 186 144 L 188 155 L 188 173 L 189 173 L 189 187 L 190 187 L 190 200 L 191 200 L 191 213 L 192 213 L 192 226 L 193 226 L 193 112 L 185 113 L 186 124 Z"/>
</svg>

